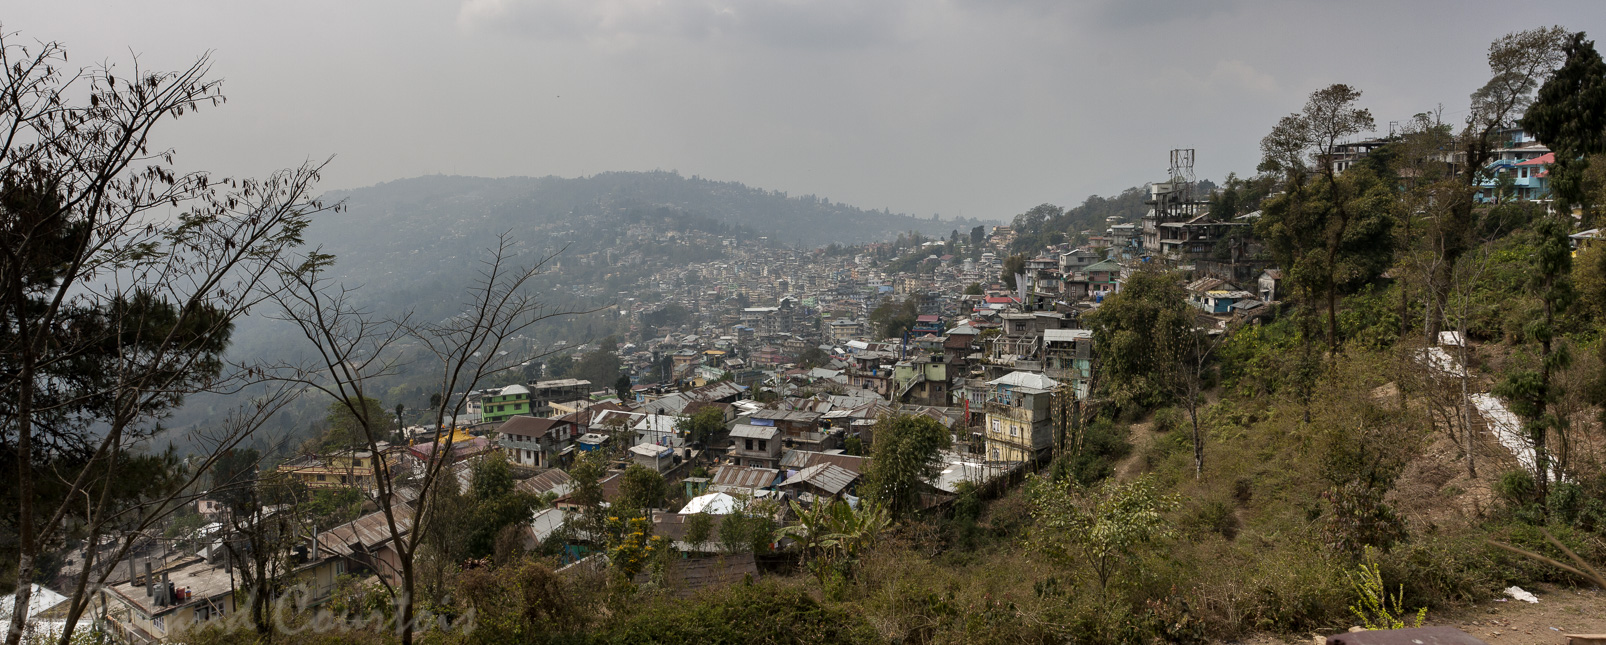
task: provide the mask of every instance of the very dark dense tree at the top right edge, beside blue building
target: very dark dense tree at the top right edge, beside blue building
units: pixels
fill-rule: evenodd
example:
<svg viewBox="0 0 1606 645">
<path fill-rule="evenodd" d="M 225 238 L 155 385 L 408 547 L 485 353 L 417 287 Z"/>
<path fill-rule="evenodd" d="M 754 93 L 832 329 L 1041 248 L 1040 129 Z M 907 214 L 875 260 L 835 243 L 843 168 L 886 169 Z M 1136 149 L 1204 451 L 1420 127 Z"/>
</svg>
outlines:
<svg viewBox="0 0 1606 645">
<path fill-rule="evenodd" d="M 1595 212 L 1585 185 L 1590 156 L 1606 152 L 1606 61 L 1584 32 L 1572 34 L 1563 51 L 1566 61 L 1539 88 L 1522 114 L 1522 128 L 1556 154 L 1550 167 L 1556 205 L 1582 205 L 1588 226 Z"/>
</svg>

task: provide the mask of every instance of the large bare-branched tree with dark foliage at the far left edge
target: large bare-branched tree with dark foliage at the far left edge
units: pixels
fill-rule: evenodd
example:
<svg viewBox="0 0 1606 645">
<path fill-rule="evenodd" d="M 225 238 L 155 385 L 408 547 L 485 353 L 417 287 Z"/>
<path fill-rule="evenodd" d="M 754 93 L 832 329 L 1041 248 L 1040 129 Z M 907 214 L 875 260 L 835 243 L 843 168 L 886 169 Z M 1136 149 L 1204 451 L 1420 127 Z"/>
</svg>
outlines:
<svg viewBox="0 0 1606 645">
<path fill-rule="evenodd" d="M 0 440 L 14 441 L 18 501 L 8 645 L 27 624 L 40 555 L 66 526 L 88 526 L 93 544 L 181 504 L 183 485 L 119 499 L 112 483 L 186 395 L 255 379 L 222 361 L 233 322 L 323 209 L 310 197 L 318 164 L 217 180 L 175 170 L 173 151 L 151 146 L 157 124 L 223 101 L 206 56 L 178 72 L 135 59 L 127 75 L 66 59 L 59 43 L 0 32 Z M 236 444 L 275 401 L 202 449 Z M 42 481 L 55 494 L 37 494 Z"/>
</svg>

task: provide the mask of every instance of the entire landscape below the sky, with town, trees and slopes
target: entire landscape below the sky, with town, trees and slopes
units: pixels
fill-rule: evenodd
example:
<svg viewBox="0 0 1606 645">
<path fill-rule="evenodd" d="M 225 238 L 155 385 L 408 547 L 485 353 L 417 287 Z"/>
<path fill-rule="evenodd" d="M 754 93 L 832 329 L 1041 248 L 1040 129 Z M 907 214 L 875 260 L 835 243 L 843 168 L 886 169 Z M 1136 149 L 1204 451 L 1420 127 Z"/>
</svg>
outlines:
<svg viewBox="0 0 1606 645">
<path fill-rule="evenodd" d="M 1585 32 L 1007 221 L 218 180 L 207 58 L 0 55 L 3 645 L 1606 642 Z"/>
</svg>

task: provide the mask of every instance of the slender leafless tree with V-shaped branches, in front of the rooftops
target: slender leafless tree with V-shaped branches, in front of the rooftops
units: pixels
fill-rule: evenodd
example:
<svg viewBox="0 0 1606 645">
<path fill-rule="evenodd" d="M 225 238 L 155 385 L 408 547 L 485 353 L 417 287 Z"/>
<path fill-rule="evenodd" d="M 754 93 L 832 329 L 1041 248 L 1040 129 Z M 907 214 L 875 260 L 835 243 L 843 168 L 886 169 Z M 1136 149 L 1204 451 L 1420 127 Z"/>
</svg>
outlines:
<svg viewBox="0 0 1606 645">
<path fill-rule="evenodd" d="M 552 310 L 527 294 L 532 279 L 544 273 L 546 255 L 528 266 L 514 266 L 517 242 L 511 234 L 498 237 L 475 282 L 464 292 L 463 313 L 438 322 L 416 321 L 411 314 L 379 316 L 357 305 L 353 292 L 332 284 L 323 270 L 332 257 L 318 252 L 296 265 L 283 266 L 284 290 L 276 294 L 275 318 L 294 324 L 315 353 L 308 364 L 275 364 L 273 371 L 294 382 L 331 396 L 347 408 L 363 430 L 361 440 L 374 456 L 374 502 L 385 517 L 397 550 L 398 571 L 390 571 L 398 584 L 387 589 L 397 605 L 397 631 L 403 643 L 413 642 L 416 629 L 416 562 L 419 544 L 427 533 L 435 509 L 430 501 L 443 477 L 451 477 L 456 417 L 464 411 L 466 396 L 490 375 L 517 369 L 519 361 L 504 355 L 509 340 L 530 326 L 583 311 Z M 435 428 L 443 430 L 421 460 L 416 473 L 402 473 L 395 452 L 385 451 L 385 420 L 374 419 L 363 401 L 376 379 L 402 369 L 402 343 L 422 347 L 437 371 L 442 401 Z M 403 499 L 405 497 L 405 499 Z M 381 576 L 384 581 L 384 576 Z"/>
</svg>

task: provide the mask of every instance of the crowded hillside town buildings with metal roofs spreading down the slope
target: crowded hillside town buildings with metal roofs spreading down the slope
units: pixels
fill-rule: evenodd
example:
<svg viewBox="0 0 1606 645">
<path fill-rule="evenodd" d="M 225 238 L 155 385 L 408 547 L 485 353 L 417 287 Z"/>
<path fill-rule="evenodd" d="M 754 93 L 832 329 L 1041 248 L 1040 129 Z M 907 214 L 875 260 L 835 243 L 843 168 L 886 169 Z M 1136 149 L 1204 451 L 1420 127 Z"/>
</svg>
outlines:
<svg viewBox="0 0 1606 645">
<path fill-rule="evenodd" d="M 1490 194 L 1505 183 L 1519 201 L 1545 199 L 1553 154 L 1521 130 L 1506 136 L 1510 146 L 1490 164 Z M 1383 143 L 1357 143 L 1333 164 L 1347 167 Z M 440 469 L 471 491 L 493 472 L 482 469 L 490 459 L 503 464 L 514 491 L 541 501 L 512 520 L 517 549 L 556 554 L 564 566 L 594 563 L 609 549 L 581 528 L 591 505 L 620 504 L 633 472 L 657 480 L 658 493 L 639 510 L 652 536 L 692 558 L 671 563 L 681 592 L 761 576 L 766 552 L 795 547 L 797 534 L 787 538 L 784 526 L 805 521 L 808 509 L 858 507 L 875 430 L 890 417 L 922 419 L 948 435 L 940 469 L 919 481 L 917 509 L 951 505 L 967 489 L 1012 486 L 1079 433 L 1081 406 L 1100 377 L 1084 319 L 1134 273 L 1185 276 L 1192 324 L 1206 335 L 1278 314 L 1286 287 L 1254 236 L 1261 213 L 1211 217 L 1211 196 L 1192 193 L 1192 154 L 1172 152 L 1172 175 L 1148 185 L 1137 221 L 1111 218 L 1028 254 L 1012 252 L 1010 226 L 840 250 L 702 241 L 723 245 L 724 257 L 657 271 L 618 308 L 641 339 L 612 348 L 622 361 L 618 383 L 546 379 L 540 361 L 535 371 L 525 363 L 522 374 L 533 379 L 458 393 L 448 406 L 459 414 L 442 427 L 403 427 L 392 441 L 305 452 L 254 475 L 352 505 L 353 517 L 334 526 L 305 518 L 279 525 L 291 531 L 278 536 L 291 544 L 279 574 L 312 606 L 336 602 L 365 578 L 400 584 L 395 539 L 410 533 L 416 481 Z M 1600 237 L 1582 231 L 1572 242 Z M 570 351 L 588 350 L 597 348 Z M 1490 419 L 1510 417 L 1498 401 L 1490 404 Z M 578 464 L 599 467 L 586 475 L 599 497 L 585 499 L 570 475 Z M 393 507 L 374 502 L 381 493 Z M 275 510 L 241 518 L 228 496 L 202 494 L 181 515 L 199 518 L 193 526 L 154 531 L 120 560 L 100 560 L 106 584 L 84 610 L 128 642 L 161 642 L 249 613 L 236 558 L 251 554 L 231 542 L 260 531 Z M 736 523 L 689 528 L 695 517 L 744 515 L 763 515 L 771 529 L 744 544 L 719 536 Z M 719 557 L 721 566 L 707 570 L 697 557 Z M 71 560 L 63 570 L 80 573 Z M 64 597 L 40 587 L 39 598 L 39 616 L 61 616 Z"/>
</svg>

